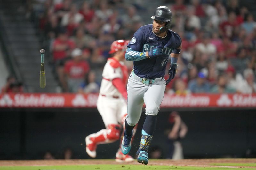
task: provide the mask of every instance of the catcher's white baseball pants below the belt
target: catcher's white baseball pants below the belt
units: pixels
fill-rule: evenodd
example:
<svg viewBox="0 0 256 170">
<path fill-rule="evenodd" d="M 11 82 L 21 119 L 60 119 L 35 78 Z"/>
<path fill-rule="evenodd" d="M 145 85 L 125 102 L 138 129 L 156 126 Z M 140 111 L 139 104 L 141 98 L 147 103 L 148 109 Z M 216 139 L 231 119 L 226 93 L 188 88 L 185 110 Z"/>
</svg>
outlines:
<svg viewBox="0 0 256 170">
<path fill-rule="evenodd" d="M 127 113 L 127 104 L 123 98 L 99 95 L 97 109 L 107 128 L 109 124 L 123 123 L 124 115 Z"/>
</svg>

